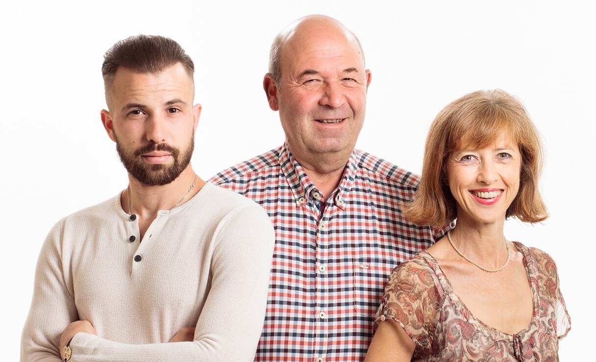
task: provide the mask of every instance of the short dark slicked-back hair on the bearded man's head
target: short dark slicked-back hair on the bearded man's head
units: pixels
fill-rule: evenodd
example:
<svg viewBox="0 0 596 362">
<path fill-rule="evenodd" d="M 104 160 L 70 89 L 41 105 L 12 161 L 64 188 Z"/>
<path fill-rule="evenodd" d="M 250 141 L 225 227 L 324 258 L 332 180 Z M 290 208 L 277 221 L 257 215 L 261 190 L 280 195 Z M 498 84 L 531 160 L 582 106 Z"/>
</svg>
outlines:
<svg viewBox="0 0 596 362">
<path fill-rule="evenodd" d="M 194 63 L 184 49 L 170 38 L 159 35 L 135 35 L 114 44 L 104 55 L 101 73 L 104 86 L 108 88 L 114 81 L 119 67 L 128 68 L 136 73 L 153 73 L 181 63 L 193 79 Z"/>
</svg>

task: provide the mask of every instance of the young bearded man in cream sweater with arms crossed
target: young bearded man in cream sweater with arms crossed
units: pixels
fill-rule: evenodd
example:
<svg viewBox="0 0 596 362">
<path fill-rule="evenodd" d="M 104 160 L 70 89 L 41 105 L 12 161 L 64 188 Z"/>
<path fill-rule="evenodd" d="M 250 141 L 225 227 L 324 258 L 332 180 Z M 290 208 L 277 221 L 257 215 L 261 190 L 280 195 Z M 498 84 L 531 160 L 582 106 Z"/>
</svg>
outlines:
<svg viewBox="0 0 596 362">
<path fill-rule="evenodd" d="M 191 167 L 193 61 L 141 35 L 116 43 L 102 70 L 101 121 L 129 184 L 49 232 L 21 361 L 251 360 L 274 231 L 259 205 Z"/>
</svg>

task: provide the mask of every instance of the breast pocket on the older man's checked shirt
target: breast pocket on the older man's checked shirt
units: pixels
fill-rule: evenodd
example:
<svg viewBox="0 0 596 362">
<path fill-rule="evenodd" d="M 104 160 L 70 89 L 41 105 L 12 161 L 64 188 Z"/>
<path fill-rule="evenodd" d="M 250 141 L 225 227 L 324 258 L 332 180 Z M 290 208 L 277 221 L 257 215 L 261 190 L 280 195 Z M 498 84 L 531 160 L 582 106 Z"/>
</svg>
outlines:
<svg viewBox="0 0 596 362">
<path fill-rule="evenodd" d="M 397 261 L 371 257 L 353 260 L 356 313 L 370 319 L 374 318 L 383 297 L 387 278 L 397 264 Z"/>
</svg>

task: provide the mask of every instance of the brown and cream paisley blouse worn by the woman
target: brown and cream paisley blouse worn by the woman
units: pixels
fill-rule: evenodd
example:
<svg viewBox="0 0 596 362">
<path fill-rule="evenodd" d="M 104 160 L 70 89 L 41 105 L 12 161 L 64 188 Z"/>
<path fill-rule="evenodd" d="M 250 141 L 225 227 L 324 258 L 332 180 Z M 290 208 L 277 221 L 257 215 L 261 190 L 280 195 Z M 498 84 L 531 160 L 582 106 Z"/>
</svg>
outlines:
<svg viewBox="0 0 596 362">
<path fill-rule="evenodd" d="M 514 242 L 532 289 L 529 326 L 509 335 L 474 316 L 426 251 L 391 273 L 375 322 L 393 319 L 414 341 L 417 361 L 558 361 L 558 340 L 571 328 L 552 258 Z"/>
</svg>

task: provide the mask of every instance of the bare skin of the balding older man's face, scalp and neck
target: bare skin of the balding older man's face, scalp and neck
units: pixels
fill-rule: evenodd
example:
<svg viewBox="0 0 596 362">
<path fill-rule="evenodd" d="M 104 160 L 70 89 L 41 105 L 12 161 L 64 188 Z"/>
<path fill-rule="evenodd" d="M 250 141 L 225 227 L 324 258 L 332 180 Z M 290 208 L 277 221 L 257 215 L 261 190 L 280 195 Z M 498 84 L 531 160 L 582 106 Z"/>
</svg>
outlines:
<svg viewBox="0 0 596 362">
<path fill-rule="evenodd" d="M 325 196 L 339 184 L 362 128 L 371 73 L 356 39 L 332 18 L 303 18 L 281 48 L 279 88 L 263 80 L 288 148 Z M 325 124 L 317 120 L 343 121 Z"/>
</svg>

